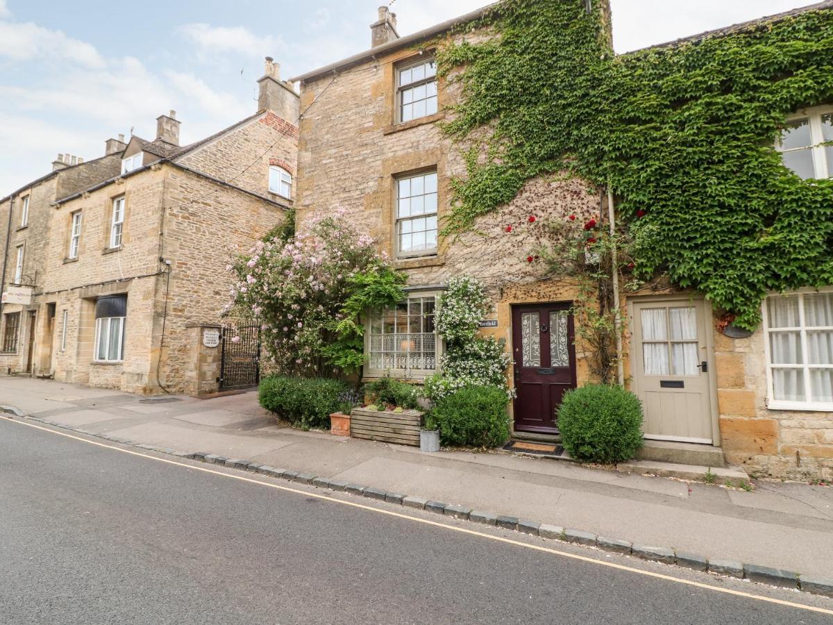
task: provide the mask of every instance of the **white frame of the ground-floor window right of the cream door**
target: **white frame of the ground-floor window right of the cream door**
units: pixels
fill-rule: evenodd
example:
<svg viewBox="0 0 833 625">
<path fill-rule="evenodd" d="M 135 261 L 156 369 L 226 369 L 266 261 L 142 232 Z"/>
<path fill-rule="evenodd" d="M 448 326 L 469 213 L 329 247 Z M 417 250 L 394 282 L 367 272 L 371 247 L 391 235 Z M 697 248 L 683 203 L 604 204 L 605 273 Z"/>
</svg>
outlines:
<svg viewBox="0 0 833 625">
<path fill-rule="evenodd" d="M 830 365 L 820 365 L 820 364 L 811 364 L 808 362 L 808 344 L 807 344 L 807 326 L 804 321 L 804 296 L 805 295 L 813 295 L 816 293 L 833 293 L 833 288 L 822 288 L 822 289 L 815 289 L 815 288 L 802 288 L 797 291 L 793 291 L 790 293 L 769 293 L 767 298 L 776 298 L 776 297 L 796 297 L 798 299 L 798 314 L 799 314 L 799 325 L 796 328 L 770 328 L 770 319 L 769 313 L 766 306 L 766 299 L 762 305 L 762 316 L 764 322 L 764 352 L 766 353 L 766 407 L 770 410 L 812 410 L 816 412 L 833 412 L 833 402 L 811 402 L 809 400 L 803 402 L 794 402 L 788 401 L 784 399 L 776 399 L 775 398 L 775 386 L 773 383 L 773 376 L 772 376 L 772 369 L 786 369 L 786 368 L 796 368 L 801 369 L 804 373 L 804 396 L 805 398 L 811 397 L 811 381 L 810 381 L 810 369 L 819 369 L 819 368 L 833 368 L 833 363 Z M 815 326 L 811 328 L 812 330 L 833 330 L 833 326 L 827 327 L 819 327 L 816 328 Z M 790 365 L 790 364 L 772 364 L 772 356 L 771 356 L 771 348 L 770 348 L 770 334 L 773 332 L 798 332 L 801 335 L 801 364 Z"/>
</svg>

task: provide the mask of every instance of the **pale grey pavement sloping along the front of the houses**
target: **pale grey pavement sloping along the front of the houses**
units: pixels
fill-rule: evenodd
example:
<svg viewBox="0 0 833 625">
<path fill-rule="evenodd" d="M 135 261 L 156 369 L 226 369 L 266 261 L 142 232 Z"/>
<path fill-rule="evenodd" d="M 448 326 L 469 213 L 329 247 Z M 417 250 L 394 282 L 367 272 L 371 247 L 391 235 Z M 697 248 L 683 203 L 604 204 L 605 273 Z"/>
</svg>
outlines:
<svg viewBox="0 0 833 625">
<path fill-rule="evenodd" d="M 833 577 L 833 488 L 755 482 L 754 492 L 588 468 L 550 458 L 410 448 L 277 423 L 257 393 L 140 398 L 0 378 L 0 405 L 161 448 L 213 453 L 496 514 Z"/>
</svg>

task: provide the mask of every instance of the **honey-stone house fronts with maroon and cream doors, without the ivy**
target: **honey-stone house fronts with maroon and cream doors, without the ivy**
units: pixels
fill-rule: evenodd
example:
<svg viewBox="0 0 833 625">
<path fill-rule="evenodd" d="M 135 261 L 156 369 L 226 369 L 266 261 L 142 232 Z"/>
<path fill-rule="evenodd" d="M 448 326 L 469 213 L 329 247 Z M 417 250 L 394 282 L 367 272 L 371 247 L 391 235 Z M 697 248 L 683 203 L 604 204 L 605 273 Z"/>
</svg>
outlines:
<svg viewBox="0 0 833 625">
<path fill-rule="evenodd" d="M 601 5 L 609 18 L 609 7 Z M 473 26 L 484 10 L 399 37 L 396 15 L 382 7 L 371 26 L 372 47 L 292 79 L 301 83 L 302 107 L 309 107 L 301 122 L 297 219 L 347 208 L 408 274 L 407 303 L 368 323 L 367 378 L 418 382 L 435 373 L 441 338 L 424 321 L 426 313 L 451 277 L 484 281 L 494 310 L 483 332 L 503 339 L 515 360 L 509 372 L 518 394 L 514 434 L 551 440 L 561 395 L 591 381 L 591 354 L 575 340 L 576 283 L 537 278 L 525 258 L 531 239 L 523 228 L 510 234 L 506 227 L 530 216 L 600 219 L 608 208 L 605 195 L 580 179 L 537 178 L 511 203 L 478 218 L 470 232 L 438 237 L 451 178 L 465 176 L 466 164 L 436 125 L 459 92 L 436 77 L 432 53 L 444 37 L 486 37 Z M 461 24 L 467 28 L 455 29 Z M 600 49 L 608 43 L 600 40 Z M 806 114 L 816 128 L 826 113 Z M 669 288 L 625 304 L 631 324 L 625 378 L 645 407 L 646 458 L 711 466 L 726 459 L 776 476 L 833 477 L 831 391 L 786 391 L 785 374 L 766 347 L 781 328 L 806 333 L 809 310 L 816 320 L 833 314 L 833 292 L 773 294 L 764 303 L 764 328 L 741 338 L 718 330 L 699 293 Z M 800 323 L 799 310 L 805 311 Z M 796 323 L 801 328 L 792 328 Z M 826 323 L 833 326 L 833 317 Z M 828 369 L 804 373 L 826 375 L 833 365 L 827 358 Z"/>
</svg>

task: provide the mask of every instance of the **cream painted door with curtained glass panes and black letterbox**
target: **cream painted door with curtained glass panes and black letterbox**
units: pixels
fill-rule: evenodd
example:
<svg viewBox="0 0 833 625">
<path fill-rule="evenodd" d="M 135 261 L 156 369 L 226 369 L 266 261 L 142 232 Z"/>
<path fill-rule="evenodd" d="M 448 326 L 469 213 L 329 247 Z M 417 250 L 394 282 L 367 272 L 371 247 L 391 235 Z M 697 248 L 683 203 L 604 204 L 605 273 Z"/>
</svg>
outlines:
<svg viewBox="0 0 833 625">
<path fill-rule="evenodd" d="M 634 390 L 646 438 L 712 443 L 706 303 L 663 299 L 633 303 Z"/>
</svg>

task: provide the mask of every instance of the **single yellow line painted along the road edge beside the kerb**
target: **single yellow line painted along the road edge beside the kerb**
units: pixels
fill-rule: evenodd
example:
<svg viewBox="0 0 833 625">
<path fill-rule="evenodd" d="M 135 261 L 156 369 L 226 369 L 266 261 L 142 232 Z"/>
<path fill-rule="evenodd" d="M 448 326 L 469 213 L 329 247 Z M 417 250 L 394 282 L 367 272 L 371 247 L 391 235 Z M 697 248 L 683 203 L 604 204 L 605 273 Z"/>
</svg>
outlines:
<svg viewBox="0 0 833 625">
<path fill-rule="evenodd" d="M 282 486 L 281 484 L 273 484 L 273 483 L 269 483 L 269 482 L 263 482 L 262 480 L 247 478 L 247 477 L 242 476 L 242 475 L 234 475 L 233 473 L 224 473 L 222 471 L 217 471 L 215 469 L 199 467 L 199 466 L 195 466 L 195 465 L 192 465 L 192 464 L 180 463 L 180 462 L 177 462 L 176 460 L 169 460 L 167 458 L 157 458 L 156 456 L 149 456 L 149 455 L 147 455 L 147 453 L 134 452 L 134 451 L 132 451 L 132 449 L 123 449 L 123 448 L 115 447 L 113 445 L 107 445 L 106 443 L 98 443 L 97 441 L 91 441 L 91 440 L 88 440 L 87 438 L 81 438 L 79 436 L 75 436 L 74 434 L 59 432 L 59 431 L 53 430 L 51 428 L 43 428 L 42 426 L 35 425 L 34 423 L 27 423 L 25 421 L 20 421 L 20 420 L 17 420 L 15 418 L 12 418 L 12 417 L 9 417 L 9 416 L 6 416 L 6 415 L 3 415 L 3 417 L 6 418 L 7 421 L 9 421 L 11 423 L 17 423 L 19 425 L 25 425 L 28 428 L 35 428 L 35 429 L 38 429 L 38 430 L 42 430 L 44 432 L 57 434 L 58 436 L 62 436 L 62 437 L 66 437 L 66 438 L 72 438 L 74 440 L 81 441 L 82 443 L 87 443 L 89 445 L 96 445 L 97 447 L 113 449 L 113 450 L 115 450 L 117 452 L 121 452 L 121 453 L 129 453 L 132 456 L 140 456 L 142 458 L 148 458 L 150 460 L 155 460 L 157 463 L 172 464 L 172 465 L 175 465 L 177 467 L 184 467 L 184 468 L 192 469 L 194 471 L 202 471 L 203 473 L 212 473 L 213 475 L 219 475 L 222 478 L 231 478 L 231 479 L 238 480 L 240 482 L 249 482 L 249 483 L 252 483 L 252 484 L 258 484 L 260 486 L 266 486 L 268 488 L 277 488 L 277 490 L 286 491 L 287 493 L 297 493 L 299 495 L 303 495 L 304 497 L 314 497 L 314 498 L 317 498 L 317 499 L 322 499 L 323 501 L 338 503 L 342 506 L 356 507 L 356 508 L 359 508 L 361 510 L 367 510 L 367 512 L 375 512 L 377 514 L 384 514 L 384 515 L 387 515 L 388 517 L 403 518 L 403 519 L 407 519 L 408 521 L 423 523 L 425 525 L 431 525 L 433 527 L 442 527 L 443 529 L 450 530 L 451 532 L 460 532 L 462 534 L 468 534 L 469 536 L 476 536 L 476 537 L 485 538 L 486 540 L 491 540 L 491 541 L 495 541 L 495 542 L 504 542 L 504 543 L 509 544 L 509 545 L 514 545 L 515 547 L 523 547 L 525 549 L 531 549 L 531 550 L 537 551 L 537 552 L 551 553 L 552 555 L 561 556 L 561 557 L 569 557 L 572 560 L 579 560 L 580 562 L 589 562 L 591 564 L 598 564 L 602 567 L 616 568 L 617 570 L 620 570 L 620 571 L 627 571 L 627 572 L 631 572 L 631 573 L 636 573 L 637 575 L 645 575 L 646 577 L 654 577 L 656 579 L 665 580 L 666 582 L 675 582 L 675 583 L 679 583 L 679 584 L 685 584 L 686 586 L 693 586 L 693 587 L 696 587 L 696 588 L 703 588 L 705 590 L 712 590 L 712 591 L 715 591 L 715 592 L 723 592 L 724 594 L 734 595 L 736 597 L 744 597 L 746 599 L 754 599 L 756 601 L 775 603 L 776 605 L 780 605 L 780 606 L 796 607 L 800 610 L 808 610 L 810 612 L 818 612 L 820 614 L 829 614 L 829 615 L 833 616 L 833 610 L 829 610 L 829 609 L 826 609 L 824 607 L 808 606 L 804 603 L 784 601 L 783 599 L 776 599 L 776 598 L 773 598 L 773 597 L 764 597 L 762 595 L 752 594 L 751 592 L 743 592 L 743 591 L 740 591 L 740 590 L 733 590 L 731 588 L 721 588 L 719 586 L 712 586 L 711 584 L 706 584 L 706 583 L 702 583 L 702 582 L 694 582 L 694 581 L 691 581 L 690 579 L 683 579 L 681 577 L 673 577 L 671 575 L 664 575 L 664 574 L 658 573 L 658 572 L 646 571 L 646 570 L 643 570 L 641 568 L 636 568 L 636 567 L 628 567 L 625 564 L 618 564 L 616 562 L 606 562 L 604 560 L 597 560 L 594 557 L 587 557 L 587 556 L 578 555 L 576 553 L 563 552 L 563 551 L 559 551 L 558 549 L 552 549 L 551 547 L 541 547 L 540 545 L 533 545 L 533 544 L 530 544 L 528 542 L 521 542 L 521 541 L 517 541 L 517 540 L 512 540 L 511 538 L 493 536 L 491 534 L 486 534 L 484 532 L 477 532 L 476 530 L 473 530 L 473 529 L 467 529 L 466 527 L 456 527 L 454 525 L 448 525 L 447 523 L 431 521 L 430 519 L 426 519 L 426 518 L 412 517 L 409 514 L 402 514 L 402 512 L 393 512 L 392 510 L 384 510 L 382 508 L 368 506 L 367 504 L 364 504 L 364 503 L 345 501 L 343 499 L 337 499 L 337 498 L 329 497 L 327 495 L 322 495 L 321 493 L 302 491 L 302 490 L 299 490 L 297 488 L 290 488 L 288 486 Z"/>
</svg>

